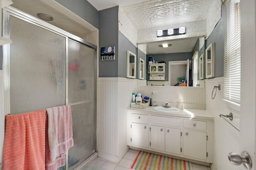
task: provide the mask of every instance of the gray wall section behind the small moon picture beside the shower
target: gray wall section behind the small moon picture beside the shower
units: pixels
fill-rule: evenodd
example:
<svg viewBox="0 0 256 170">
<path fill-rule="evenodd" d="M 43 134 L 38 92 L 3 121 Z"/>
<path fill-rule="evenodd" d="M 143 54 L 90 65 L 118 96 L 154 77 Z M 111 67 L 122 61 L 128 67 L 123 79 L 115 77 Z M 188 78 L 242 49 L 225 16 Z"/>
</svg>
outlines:
<svg viewBox="0 0 256 170">
<path fill-rule="evenodd" d="M 115 46 L 115 60 L 100 61 L 100 48 L 110 46 Z M 118 77 L 118 6 L 99 11 L 98 48 L 99 77 Z"/>
</svg>

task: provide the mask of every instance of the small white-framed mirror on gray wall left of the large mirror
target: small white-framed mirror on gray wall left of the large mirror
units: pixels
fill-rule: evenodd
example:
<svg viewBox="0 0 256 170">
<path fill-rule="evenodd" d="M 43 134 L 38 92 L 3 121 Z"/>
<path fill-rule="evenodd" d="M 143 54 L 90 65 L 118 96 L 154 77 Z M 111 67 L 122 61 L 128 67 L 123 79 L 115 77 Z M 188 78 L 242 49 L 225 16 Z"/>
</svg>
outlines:
<svg viewBox="0 0 256 170">
<path fill-rule="evenodd" d="M 127 51 L 127 78 L 135 78 L 136 75 L 136 55 L 130 51 Z"/>
</svg>

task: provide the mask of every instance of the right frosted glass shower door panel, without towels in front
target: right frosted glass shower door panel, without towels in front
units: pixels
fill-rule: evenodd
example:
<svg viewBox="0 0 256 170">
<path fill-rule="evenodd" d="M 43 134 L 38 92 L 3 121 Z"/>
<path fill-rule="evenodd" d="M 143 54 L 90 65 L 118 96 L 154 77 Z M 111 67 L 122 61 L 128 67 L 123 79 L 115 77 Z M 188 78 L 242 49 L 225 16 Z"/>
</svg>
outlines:
<svg viewBox="0 0 256 170">
<path fill-rule="evenodd" d="M 68 40 L 68 104 L 74 139 L 74 147 L 68 151 L 68 168 L 95 151 L 94 51 Z"/>
</svg>

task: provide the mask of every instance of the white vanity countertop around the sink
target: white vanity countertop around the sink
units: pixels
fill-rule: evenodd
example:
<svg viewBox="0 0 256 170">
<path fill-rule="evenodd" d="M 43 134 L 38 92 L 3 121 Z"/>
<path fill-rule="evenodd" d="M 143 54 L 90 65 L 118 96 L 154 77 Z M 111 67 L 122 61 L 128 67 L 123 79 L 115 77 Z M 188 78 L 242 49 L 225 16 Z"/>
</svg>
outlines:
<svg viewBox="0 0 256 170">
<path fill-rule="evenodd" d="M 145 109 L 141 108 L 133 108 L 129 107 L 127 110 L 132 110 L 136 113 L 143 113 L 143 112 L 151 112 L 151 114 L 156 115 L 169 115 L 169 116 L 177 116 L 177 117 L 189 117 L 189 118 L 195 118 L 195 119 L 209 119 L 213 120 L 213 115 L 211 115 L 207 110 L 200 110 L 200 109 L 182 109 L 180 112 L 176 113 L 165 113 L 153 110 L 154 106 L 148 106 Z"/>
</svg>

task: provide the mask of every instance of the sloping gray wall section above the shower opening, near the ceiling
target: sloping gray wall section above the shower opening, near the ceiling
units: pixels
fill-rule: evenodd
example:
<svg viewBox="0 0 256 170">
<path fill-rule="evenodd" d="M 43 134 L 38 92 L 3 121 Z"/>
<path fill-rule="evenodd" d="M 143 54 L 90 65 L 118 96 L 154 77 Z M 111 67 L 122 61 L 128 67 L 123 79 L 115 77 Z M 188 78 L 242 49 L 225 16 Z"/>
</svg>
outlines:
<svg viewBox="0 0 256 170">
<path fill-rule="evenodd" d="M 85 21 L 99 28 L 98 10 L 94 8 L 87 0 L 55 0 L 74 14 L 78 15 Z"/>
</svg>

